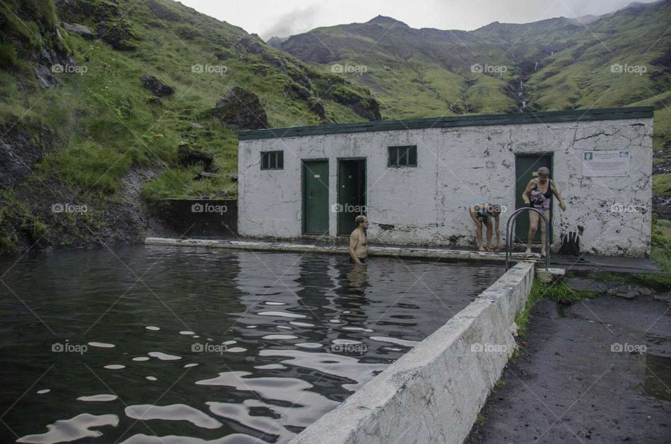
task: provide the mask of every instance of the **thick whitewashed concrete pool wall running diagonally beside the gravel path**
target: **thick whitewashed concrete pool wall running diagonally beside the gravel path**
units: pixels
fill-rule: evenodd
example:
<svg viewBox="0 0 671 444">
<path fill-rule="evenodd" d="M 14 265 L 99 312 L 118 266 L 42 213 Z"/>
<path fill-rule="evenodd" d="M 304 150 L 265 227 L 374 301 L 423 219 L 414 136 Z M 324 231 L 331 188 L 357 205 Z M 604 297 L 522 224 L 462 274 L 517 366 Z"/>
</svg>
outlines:
<svg viewBox="0 0 671 444">
<path fill-rule="evenodd" d="M 534 269 L 519 262 L 290 442 L 462 443 L 514 351 Z"/>
</svg>

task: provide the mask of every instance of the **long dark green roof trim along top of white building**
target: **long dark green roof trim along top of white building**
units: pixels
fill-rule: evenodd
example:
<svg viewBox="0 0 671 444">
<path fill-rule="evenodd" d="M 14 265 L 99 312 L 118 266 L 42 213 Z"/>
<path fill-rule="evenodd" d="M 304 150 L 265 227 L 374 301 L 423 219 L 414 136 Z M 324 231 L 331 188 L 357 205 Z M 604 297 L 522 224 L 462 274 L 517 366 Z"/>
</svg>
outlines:
<svg viewBox="0 0 671 444">
<path fill-rule="evenodd" d="M 618 119 L 648 119 L 654 108 L 638 106 L 628 108 L 602 108 L 593 110 L 563 110 L 544 112 L 520 112 L 519 114 L 475 114 L 470 116 L 428 117 L 425 119 L 376 120 L 353 124 L 331 124 L 313 126 L 289 126 L 239 131 L 240 140 L 295 138 L 301 135 L 365 133 L 368 131 L 398 131 L 421 128 L 449 128 L 452 126 L 484 126 L 515 124 L 549 124 L 554 122 L 577 122 Z"/>
</svg>

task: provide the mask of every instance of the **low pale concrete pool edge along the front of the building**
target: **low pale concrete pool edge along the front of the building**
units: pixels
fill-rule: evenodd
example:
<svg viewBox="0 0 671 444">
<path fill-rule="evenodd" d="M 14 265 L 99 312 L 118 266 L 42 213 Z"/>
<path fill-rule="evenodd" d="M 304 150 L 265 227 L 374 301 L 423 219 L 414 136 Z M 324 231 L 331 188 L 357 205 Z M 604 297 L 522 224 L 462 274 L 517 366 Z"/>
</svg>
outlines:
<svg viewBox="0 0 671 444">
<path fill-rule="evenodd" d="M 246 251 L 282 251 L 298 253 L 340 253 L 347 254 L 347 246 L 295 244 L 291 242 L 259 242 L 245 240 L 217 240 L 217 239 L 174 239 L 168 237 L 147 237 L 146 245 L 166 246 L 201 246 L 208 248 L 233 249 Z M 422 248 L 418 246 L 370 246 L 370 256 L 393 258 L 428 258 L 450 260 L 481 260 L 503 262 L 505 253 L 491 253 L 472 250 L 451 250 L 438 248 Z M 540 255 L 530 258 L 526 253 L 512 253 L 517 260 L 536 261 Z"/>
</svg>

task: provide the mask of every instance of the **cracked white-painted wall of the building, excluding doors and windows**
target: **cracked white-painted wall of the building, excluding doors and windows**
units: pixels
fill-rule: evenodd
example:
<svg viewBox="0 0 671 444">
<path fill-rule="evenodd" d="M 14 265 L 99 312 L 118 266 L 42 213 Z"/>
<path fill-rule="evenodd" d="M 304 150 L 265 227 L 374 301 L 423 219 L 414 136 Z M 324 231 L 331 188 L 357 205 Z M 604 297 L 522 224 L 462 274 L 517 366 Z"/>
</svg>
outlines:
<svg viewBox="0 0 671 444">
<path fill-rule="evenodd" d="M 388 168 L 387 147 L 393 145 L 417 145 L 417 168 Z M 261 151 L 277 149 L 284 151 L 284 170 L 261 171 Z M 632 151 L 629 177 L 582 177 L 583 151 L 599 149 Z M 562 213 L 553 200 L 554 249 L 562 233 L 582 229 L 582 251 L 649 253 L 652 119 L 240 140 L 238 231 L 250 237 L 300 237 L 301 159 L 329 159 L 331 207 L 337 198 L 337 158 L 363 157 L 370 242 L 473 245 L 475 229 L 466 208 L 487 200 L 512 212 L 515 154 L 536 153 L 554 154 L 551 177 L 568 203 Z M 644 210 L 613 213 L 614 203 Z M 331 213 L 331 236 L 336 235 L 336 216 Z M 502 237 L 505 221 L 504 214 Z"/>
</svg>

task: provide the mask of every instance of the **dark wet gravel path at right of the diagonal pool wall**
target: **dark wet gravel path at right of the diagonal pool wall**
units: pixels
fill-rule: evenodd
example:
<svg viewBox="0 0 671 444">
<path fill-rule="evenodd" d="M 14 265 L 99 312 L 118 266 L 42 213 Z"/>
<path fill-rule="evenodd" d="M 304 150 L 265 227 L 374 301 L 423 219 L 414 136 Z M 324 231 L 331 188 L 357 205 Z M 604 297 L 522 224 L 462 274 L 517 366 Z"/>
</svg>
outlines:
<svg viewBox="0 0 671 444">
<path fill-rule="evenodd" d="M 671 310 L 660 299 L 537 303 L 466 442 L 670 443 Z"/>
</svg>

